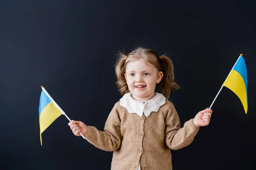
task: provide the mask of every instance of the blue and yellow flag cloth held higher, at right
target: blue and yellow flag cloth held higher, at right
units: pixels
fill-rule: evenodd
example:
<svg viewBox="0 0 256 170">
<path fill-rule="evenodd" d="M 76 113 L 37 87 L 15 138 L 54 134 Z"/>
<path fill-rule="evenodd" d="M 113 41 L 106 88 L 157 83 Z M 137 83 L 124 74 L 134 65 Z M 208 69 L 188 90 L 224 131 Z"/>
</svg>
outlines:
<svg viewBox="0 0 256 170">
<path fill-rule="evenodd" d="M 244 111 L 247 113 L 247 69 L 242 55 L 240 54 L 239 59 L 222 86 L 229 88 L 239 97 L 244 106 Z"/>
</svg>

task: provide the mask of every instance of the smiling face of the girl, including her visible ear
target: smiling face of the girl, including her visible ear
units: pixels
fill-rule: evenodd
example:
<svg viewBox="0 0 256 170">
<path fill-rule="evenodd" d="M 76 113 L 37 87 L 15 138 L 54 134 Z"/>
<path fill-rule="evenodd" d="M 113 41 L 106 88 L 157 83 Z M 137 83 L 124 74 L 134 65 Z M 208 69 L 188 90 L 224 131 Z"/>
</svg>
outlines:
<svg viewBox="0 0 256 170">
<path fill-rule="evenodd" d="M 125 79 L 132 97 L 139 101 L 148 101 L 155 94 L 156 84 L 161 81 L 163 72 L 143 59 L 129 62 L 125 69 Z"/>
</svg>

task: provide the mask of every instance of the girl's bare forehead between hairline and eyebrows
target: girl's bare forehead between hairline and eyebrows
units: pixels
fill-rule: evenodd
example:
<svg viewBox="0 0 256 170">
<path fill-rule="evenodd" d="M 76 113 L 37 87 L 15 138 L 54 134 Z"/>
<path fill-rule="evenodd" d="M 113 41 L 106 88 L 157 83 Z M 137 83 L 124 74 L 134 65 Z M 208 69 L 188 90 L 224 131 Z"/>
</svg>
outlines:
<svg viewBox="0 0 256 170">
<path fill-rule="evenodd" d="M 125 71 L 154 71 L 157 68 L 150 62 L 145 62 L 143 59 L 137 59 L 135 61 L 128 62 Z"/>
</svg>

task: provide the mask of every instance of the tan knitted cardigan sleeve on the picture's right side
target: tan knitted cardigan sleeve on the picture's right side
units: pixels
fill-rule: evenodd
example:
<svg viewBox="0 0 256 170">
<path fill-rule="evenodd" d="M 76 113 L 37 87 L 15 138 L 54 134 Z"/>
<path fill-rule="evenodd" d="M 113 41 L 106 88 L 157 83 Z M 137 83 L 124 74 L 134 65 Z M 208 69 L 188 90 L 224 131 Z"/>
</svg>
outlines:
<svg viewBox="0 0 256 170">
<path fill-rule="evenodd" d="M 180 119 L 172 103 L 167 112 L 165 121 L 166 145 L 172 150 L 178 150 L 191 144 L 199 130 L 199 128 L 194 125 L 193 119 L 185 122 L 184 126 L 180 128 Z"/>
</svg>

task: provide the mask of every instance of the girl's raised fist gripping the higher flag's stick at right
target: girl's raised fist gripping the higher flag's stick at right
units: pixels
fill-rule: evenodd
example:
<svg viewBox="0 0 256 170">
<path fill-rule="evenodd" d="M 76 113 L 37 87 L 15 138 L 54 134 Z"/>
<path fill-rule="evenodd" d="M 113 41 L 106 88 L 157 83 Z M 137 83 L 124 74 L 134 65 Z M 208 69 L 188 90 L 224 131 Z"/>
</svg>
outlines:
<svg viewBox="0 0 256 170">
<path fill-rule="evenodd" d="M 212 110 L 209 108 L 206 108 L 195 115 L 193 122 L 196 127 L 207 126 L 210 123 L 211 116 L 212 116 Z"/>
</svg>

